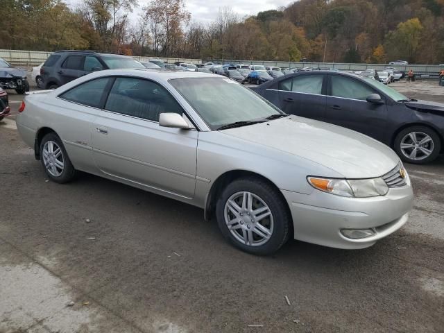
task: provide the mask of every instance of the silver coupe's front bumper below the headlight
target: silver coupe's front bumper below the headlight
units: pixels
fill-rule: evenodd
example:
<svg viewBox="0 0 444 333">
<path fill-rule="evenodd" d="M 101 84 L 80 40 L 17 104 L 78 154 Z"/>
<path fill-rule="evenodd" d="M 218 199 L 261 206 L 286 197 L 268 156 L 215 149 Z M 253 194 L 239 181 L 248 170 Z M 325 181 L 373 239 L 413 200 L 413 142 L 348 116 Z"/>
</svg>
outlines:
<svg viewBox="0 0 444 333">
<path fill-rule="evenodd" d="M 385 196 L 345 198 L 314 190 L 299 194 L 282 190 L 293 217 L 294 239 L 332 248 L 357 249 L 372 246 L 407 222 L 413 204 L 411 182 L 390 188 Z M 361 239 L 345 237 L 344 229 L 372 229 Z"/>
</svg>

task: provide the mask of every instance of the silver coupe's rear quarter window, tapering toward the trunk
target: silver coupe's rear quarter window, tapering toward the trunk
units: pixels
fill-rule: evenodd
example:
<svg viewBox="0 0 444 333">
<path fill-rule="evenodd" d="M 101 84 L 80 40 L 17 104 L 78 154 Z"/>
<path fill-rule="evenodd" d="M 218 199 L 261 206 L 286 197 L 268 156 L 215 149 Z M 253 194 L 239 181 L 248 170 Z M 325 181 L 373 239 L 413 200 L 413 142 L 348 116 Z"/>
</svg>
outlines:
<svg viewBox="0 0 444 333">
<path fill-rule="evenodd" d="M 59 97 L 67 101 L 92 106 L 93 108 L 101 108 L 101 99 L 109 80 L 111 78 L 96 78 L 69 89 Z"/>
</svg>

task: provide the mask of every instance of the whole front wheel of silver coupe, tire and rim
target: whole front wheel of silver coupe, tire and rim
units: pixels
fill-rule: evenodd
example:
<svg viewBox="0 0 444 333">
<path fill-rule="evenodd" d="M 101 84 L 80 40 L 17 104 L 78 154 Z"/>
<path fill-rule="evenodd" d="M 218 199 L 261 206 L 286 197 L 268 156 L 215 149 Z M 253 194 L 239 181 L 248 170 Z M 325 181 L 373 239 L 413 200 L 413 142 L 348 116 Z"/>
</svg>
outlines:
<svg viewBox="0 0 444 333">
<path fill-rule="evenodd" d="M 252 199 L 250 210 L 244 205 L 244 201 L 248 202 L 246 198 Z M 237 206 L 229 208 L 229 201 Z M 253 210 L 258 209 L 263 212 L 253 214 Z M 257 220 L 257 216 L 262 218 Z M 271 255 L 289 239 L 288 207 L 279 191 L 259 178 L 240 178 L 225 187 L 216 203 L 216 219 L 225 239 L 253 255 Z"/>
</svg>

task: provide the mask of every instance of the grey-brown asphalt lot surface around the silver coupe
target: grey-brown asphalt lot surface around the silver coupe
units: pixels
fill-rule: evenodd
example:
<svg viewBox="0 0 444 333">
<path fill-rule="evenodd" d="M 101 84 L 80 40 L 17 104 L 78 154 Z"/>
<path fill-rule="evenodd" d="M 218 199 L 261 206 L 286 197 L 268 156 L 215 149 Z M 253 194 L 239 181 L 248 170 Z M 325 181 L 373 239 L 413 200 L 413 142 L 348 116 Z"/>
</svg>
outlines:
<svg viewBox="0 0 444 333">
<path fill-rule="evenodd" d="M 393 87 L 444 102 L 432 83 Z M 196 207 L 84 173 L 47 182 L 21 99 L 0 121 L 1 333 L 443 332 L 444 157 L 406 166 L 410 220 L 375 246 L 255 257 Z"/>
</svg>

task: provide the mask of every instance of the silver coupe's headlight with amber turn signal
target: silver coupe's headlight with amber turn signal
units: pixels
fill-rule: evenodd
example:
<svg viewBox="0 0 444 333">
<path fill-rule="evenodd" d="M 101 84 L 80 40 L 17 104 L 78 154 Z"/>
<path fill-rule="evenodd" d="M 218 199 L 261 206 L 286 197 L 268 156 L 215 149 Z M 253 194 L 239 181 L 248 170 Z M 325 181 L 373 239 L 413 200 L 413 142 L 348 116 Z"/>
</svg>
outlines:
<svg viewBox="0 0 444 333">
<path fill-rule="evenodd" d="M 307 180 L 315 189 L 336 194 L 336 196 L 367 198 L 384 196 L 388 192 L 388 186 L 382 178 L 345 180 L 307 177 Z"/>
</svg>

